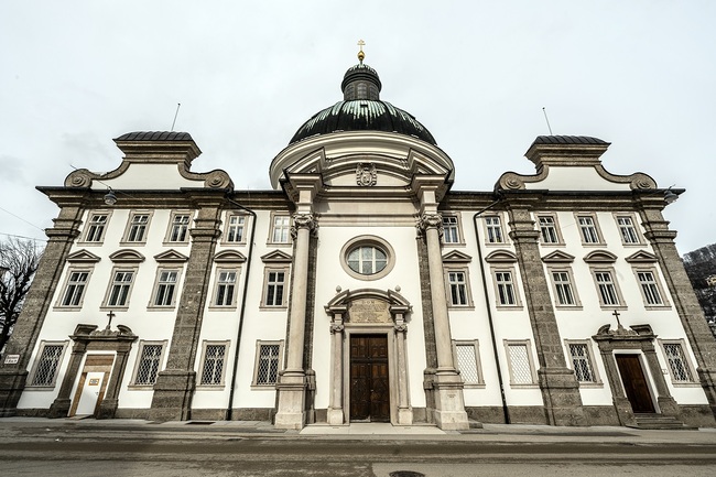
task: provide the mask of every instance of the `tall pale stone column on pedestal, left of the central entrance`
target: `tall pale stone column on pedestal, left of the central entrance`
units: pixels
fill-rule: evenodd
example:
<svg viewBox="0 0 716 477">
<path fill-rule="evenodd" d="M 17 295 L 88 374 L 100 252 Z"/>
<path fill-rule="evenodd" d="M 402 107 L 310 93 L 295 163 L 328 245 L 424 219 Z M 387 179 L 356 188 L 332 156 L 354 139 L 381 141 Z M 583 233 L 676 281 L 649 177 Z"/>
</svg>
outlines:
<svg viewBox="0 0 716 477">
<path fill-rule="evenodd" d="M 312 214 L 293 216 L 295 251 L 293 257 L 293 288 L 291 289 L 291 315 L 286 368 L 276 384 L 279 409 L 275 426 L 302 429 L 305 423 L 306 375 L 303 367 L 304 335 L 306 327 L 306 294 L 308 282 L 308 242 L 315 228 Z"/>
</svg>

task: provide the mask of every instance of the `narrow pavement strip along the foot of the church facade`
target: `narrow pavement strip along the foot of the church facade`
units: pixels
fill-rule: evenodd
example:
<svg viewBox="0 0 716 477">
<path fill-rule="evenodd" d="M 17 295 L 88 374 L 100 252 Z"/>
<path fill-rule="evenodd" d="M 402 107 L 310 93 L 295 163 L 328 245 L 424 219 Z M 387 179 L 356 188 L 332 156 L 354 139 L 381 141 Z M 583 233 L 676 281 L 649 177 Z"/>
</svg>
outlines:
<svg viewBox="0 0 716 477">
<path fill-rule="evenodd" d="M 393 426 L 390 423 L 351 423 L 334 426 L 311 424 L 301 431 L 275 429 L 264 421 L 169 421 L 1 418 L 0 433 L 77 430 L 117 434 L 151 434 L 155 438 L 286 438 L 340 441 L 435 441 L 474 443 L 611 443 L 630 445 L 692 444 L 716 445 L 716 429 L 636 430 L 620 426 L 561 427 L 527 424 L 484 424 L 482 429 L 442 431 L 433 425 Z"/>
</svg>

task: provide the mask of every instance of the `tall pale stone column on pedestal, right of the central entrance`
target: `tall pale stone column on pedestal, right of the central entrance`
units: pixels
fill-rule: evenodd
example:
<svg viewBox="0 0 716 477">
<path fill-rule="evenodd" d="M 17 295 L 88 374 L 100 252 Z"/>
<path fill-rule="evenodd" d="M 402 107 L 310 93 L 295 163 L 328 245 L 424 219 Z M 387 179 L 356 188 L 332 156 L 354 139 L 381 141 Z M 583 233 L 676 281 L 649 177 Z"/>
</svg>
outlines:
<svg viewBox="0 0 716 477">
<path fill-rule="evenodd" d="M 425 235 L 427 247 L 427 268 L 430 273 L 433 326 L 435 329 L 435 350 L 437 370 L 434 381 L 435 422 L 441 429 L 468 429 L 463 380 L 453 362 L 453 343 L 451 338 L 449 317 L 447 315 L 447 294 L 443 257 L 441 254 L 440 231 L 443 218 L 437 213 L 423 214 L 421 229 Z"/>
</svg>

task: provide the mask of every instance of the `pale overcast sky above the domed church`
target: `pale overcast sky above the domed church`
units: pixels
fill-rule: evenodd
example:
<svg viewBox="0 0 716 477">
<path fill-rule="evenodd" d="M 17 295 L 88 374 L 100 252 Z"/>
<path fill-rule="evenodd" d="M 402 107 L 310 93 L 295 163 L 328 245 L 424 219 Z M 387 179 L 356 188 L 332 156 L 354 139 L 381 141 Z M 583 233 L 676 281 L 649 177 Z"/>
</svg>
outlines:
<svg viewBox="0 0 716 477">
<path fill-rule="evenodd" d="M 716 241 L 715 19 L 708 0 L 2 0 L 0 232 L 44 239 L 57 208 L 35 185 L 116 169 L 112 138 L 170 130 L 177 102 L 194 171 L 270 188 L 364 39 L 381 99 L 455 162 L 453 189 L 533 173 L 546 107 L 554 134 L 611 142 L 609 172 L 686 188 L 665 210 L 684 253 Z"/>
</svg>

